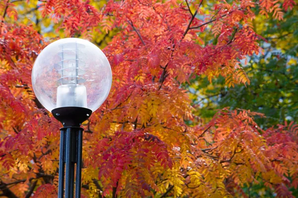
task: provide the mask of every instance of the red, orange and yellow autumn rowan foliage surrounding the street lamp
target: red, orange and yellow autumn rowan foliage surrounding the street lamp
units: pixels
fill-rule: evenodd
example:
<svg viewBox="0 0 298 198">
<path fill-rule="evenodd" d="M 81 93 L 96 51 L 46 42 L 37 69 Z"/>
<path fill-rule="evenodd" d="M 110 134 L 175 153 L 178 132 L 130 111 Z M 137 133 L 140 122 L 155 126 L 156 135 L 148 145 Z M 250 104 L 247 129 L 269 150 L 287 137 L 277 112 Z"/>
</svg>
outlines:
<svg viewBox="0 0 298 198">
<path fill-rule="evenodd" d="M 261 55 L 256 17 L 283 20 L 294 0 L 0 2 L 0 196 L 55 197 L 60 124 L 36 100 L 31 68 L 53 40 L 90 40 L 108 57 L 110 95 L 87 122 L 82 196 L 247 197 L 298 186 L 298 126 L 261 129 L 250 110 L 206 122 L 185 83 L 202 74 L 249 84 L 240 64 Z M 211 34 L 210 34 L 211 32 Z M 204 40 L 212 42 L 204 42 Z M 203 111 L 203 109 L 202 109 Z"/>
</svg>

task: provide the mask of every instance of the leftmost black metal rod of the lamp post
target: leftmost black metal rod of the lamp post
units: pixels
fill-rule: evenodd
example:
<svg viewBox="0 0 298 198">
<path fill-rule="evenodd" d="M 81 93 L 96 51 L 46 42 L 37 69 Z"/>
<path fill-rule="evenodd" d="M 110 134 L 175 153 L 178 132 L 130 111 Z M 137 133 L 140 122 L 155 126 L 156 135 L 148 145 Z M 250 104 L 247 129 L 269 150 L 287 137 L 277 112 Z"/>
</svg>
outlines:
<svg viewBox="0 0 298 198">
<path fill-rule="evenodd" d="M 59 185 L 58 198 L 64 195 L 64 155 L 65 155 L 65 131 L 60 133 L 60 154 L 59 154 Z"/>
</svg>

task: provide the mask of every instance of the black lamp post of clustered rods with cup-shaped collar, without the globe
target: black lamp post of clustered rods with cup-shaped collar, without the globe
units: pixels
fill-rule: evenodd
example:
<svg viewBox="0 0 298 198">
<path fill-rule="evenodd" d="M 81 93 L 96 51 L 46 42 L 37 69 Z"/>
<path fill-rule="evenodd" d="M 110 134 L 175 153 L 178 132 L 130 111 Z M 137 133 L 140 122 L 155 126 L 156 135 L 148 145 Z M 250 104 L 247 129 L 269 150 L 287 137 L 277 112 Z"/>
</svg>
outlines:
<svg viewBox="0 0 298 198">
<path fill-rule="evenodd" d="M 87 120 L 91 113 L 90 109 L 81 107 L 61 107 L 52 111 L 53 116 L 64 126 L 60 129 L 58 198 L 74 198 L 74 182 L 75 198 L 80 198 L 84 131 L 80 128 L 80 124 Z M 74 170 L 75 163 L 76 170 Z M 76 171 L 75 181 L 74 171 Z"/>
</svg>

